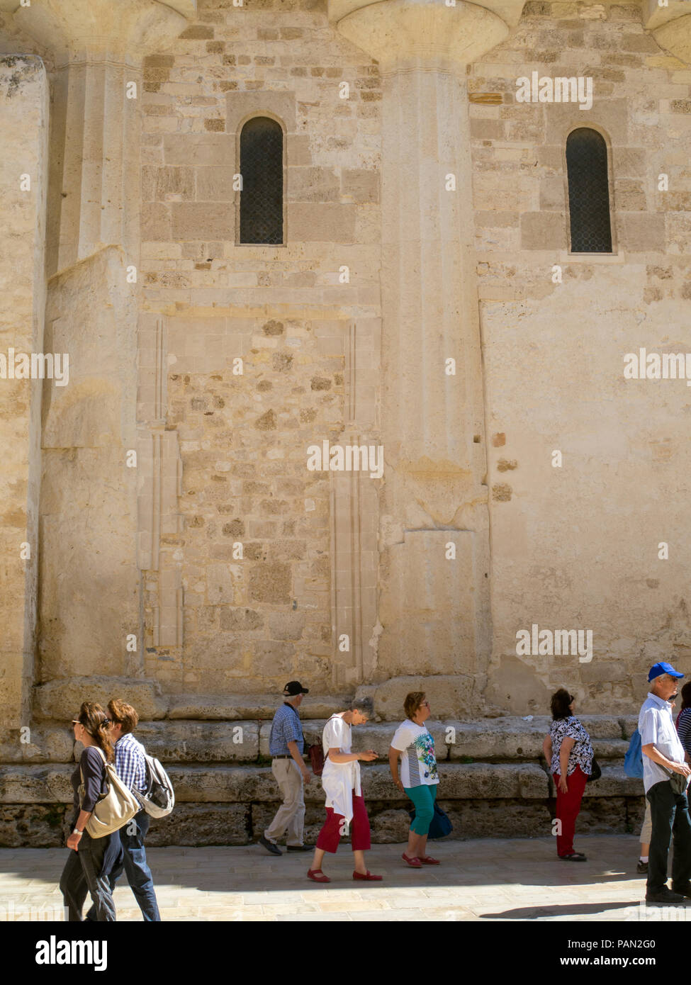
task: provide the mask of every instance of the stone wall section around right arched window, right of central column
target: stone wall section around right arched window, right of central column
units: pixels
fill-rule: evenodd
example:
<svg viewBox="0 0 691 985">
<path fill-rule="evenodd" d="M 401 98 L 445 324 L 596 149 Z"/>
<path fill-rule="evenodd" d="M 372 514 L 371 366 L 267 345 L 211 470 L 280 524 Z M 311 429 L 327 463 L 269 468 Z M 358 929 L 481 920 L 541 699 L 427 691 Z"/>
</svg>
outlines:
<svg viewBox="0 0 691 985">
<path fill-rule="evenodd" d="M 517 102 L 533 70 L 590 76 L 592 108 Z M 588 711 L 626 713 L 657 660 L 691 670 L 689 391 L 623 375 L 626 353 L 688 348 L 690 83 L 640 9 L 618 4 L 528 3 L 469 76 L 493 548 L 486 697 L 516 713 L 539 713 L 560 685 Z M 611 256 L 567 253 L 565 142 L 578 126 L 607 142 Z M 518 658 L 531 624 L 589 627 L 591 662 Z"/>
</svg>

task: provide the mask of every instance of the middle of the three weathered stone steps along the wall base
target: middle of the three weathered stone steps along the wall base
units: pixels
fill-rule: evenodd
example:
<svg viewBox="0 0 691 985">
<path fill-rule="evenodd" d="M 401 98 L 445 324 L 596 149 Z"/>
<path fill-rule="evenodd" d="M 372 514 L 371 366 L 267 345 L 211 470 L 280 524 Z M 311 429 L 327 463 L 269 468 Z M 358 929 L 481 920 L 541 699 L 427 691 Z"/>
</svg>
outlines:
<svg viewBox="0 0 691 985">
<path fill-rule="evenodd" d="M 0 767 L 0 804 L 50 804 L 72 801 L 71 765 Z M 388 767 L 361 766 L 366 797 L 404 802 Z M 171 766 L 175 799 L 180 803 L 275 802 L 278 788 L 268 766 Z M 439 796 L 444 799 L 545 799 L 554 796 L 551 777 L 535 763 L 440 764 Z M 643 783 L 624 774 L 621 764 L 605 765 L 602 777 L 587 784 L 587 796 L 642 796 Z M 323 803 L 318 778 L 306 786 L 306 800 Z"/>
</svg>

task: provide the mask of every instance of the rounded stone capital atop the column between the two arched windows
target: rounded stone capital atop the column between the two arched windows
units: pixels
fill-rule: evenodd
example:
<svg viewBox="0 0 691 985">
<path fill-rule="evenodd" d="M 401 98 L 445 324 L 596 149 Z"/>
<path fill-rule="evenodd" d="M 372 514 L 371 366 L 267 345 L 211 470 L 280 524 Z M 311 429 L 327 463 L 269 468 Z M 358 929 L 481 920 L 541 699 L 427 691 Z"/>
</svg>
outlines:
<svg viewBox="0 0 691 985">
<path fill-rule="evenodd" d="M 383 70 L 406 62 L 468 65 L 507 37 L 523 0 L 328 0 L 338 33 Z"/>
</svg>

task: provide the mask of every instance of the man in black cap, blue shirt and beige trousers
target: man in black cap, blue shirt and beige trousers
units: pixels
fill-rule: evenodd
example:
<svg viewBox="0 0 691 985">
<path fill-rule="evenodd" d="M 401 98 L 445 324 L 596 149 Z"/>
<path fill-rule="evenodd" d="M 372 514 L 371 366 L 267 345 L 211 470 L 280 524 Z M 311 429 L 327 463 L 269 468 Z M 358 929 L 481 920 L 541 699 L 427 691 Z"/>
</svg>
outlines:
<svg viewBox="0 0 691 985">
<path fill-rule="evenodd" d="M 272 755 L 271 772 L 281 790 L 283 804 L 276 812 L 276 817 L 259 838 L 272 855 L 282 855 L 283 852 L 276 844 L 288 828 L 286 840 L 289 852 L 309 851 L 309 845 L 303 844 L 303 827 L 305 825 L 305 793 L 303 782 L 309 783 L 311 775 L 303 759 L 305 740 L 303 726 L 300 722 L 298 708 L 303 694 L 308 694 L 309 688 L 303 688 L 300 681 L 289 681 L 283 689 L 286 700 L 273 716 L 271 735 L 269 736 L 269 753 Z"/>
</svg>

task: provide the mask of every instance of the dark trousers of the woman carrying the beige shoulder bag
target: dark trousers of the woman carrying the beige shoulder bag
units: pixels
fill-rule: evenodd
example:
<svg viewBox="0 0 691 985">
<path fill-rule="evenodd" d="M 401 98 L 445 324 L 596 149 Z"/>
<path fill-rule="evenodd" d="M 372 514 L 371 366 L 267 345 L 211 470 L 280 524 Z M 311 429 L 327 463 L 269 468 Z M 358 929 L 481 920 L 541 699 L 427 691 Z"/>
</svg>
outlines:
<svg viewBox="0 0 691 985">
<path fill-rule="evenodd" d="M 84 831 L 79 840 L 79 849 L 70 854 L 60 877 L 60 891 L 67 907 L 67 919 L 74 923 L 82 920 L 82 909 L 91 894 L 93 906 L 90 919 L 110 921 L 115 919 L 115 905 L 108 883 L 107 855 L 115 848 L 117 831 L 106 834 L 104 838 L 92 838 Z M 108 852 L 108 849 L 110 851 Z"/>
</svg>

